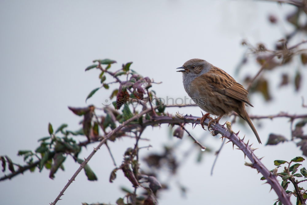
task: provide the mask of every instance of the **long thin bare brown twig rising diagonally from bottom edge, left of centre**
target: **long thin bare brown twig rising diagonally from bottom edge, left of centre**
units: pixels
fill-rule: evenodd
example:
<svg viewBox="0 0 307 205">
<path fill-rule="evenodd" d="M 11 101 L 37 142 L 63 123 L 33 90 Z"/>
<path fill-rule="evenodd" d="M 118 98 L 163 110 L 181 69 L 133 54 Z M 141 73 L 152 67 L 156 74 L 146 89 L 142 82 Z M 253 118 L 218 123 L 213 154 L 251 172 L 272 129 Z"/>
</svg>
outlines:
<svg viewBox="0 0 307 205">
<path fill-rule="evenodd" d="M 64 186 L 64 188 L 62 189 L 62 191 L 60 191 L 60 194 L 56 197 L 56 199 L 51 203 L 51 205 L 56 204 L 56 202 L 58 200 L 60 200 L 60 197 L 62 195 L 64 195 L 64 191 L 69 187 L 69 185 L 75 180 L 76 176 L 80 173 L 80 171 L 84 168 L 84 166 L 88 163 L 88 161 L 94 156 L 94 154 L 100 149 L 100 147 L 106 142 L 107 139 L 109 139 L 113 134 L 115 134 L 117 131 L 119 131 L 121 128 L 125 127 L 127 124 L 129 124 L 130 122 L 132 122 L 133 120 L 136 120 L 138 118 L 140 118 L 141 116 L 143 116 L 144 114 L 148 113 L 151 111 L 150 109 L 146 109 L 142 112 L 140 112 L 139 114 L 131 117 L 130 119 L 126 120 L 125 122 L 123 122 L 122 124 L 120 124 L 117 128 L 115 128 L 114 130 L 112 130 L 111 132 L 109 132 L 109 134 L 107 134 L 103 140 L 101 140 L 101 142 L 98 144 L 97 147 L 94 148 L 94 150 L 91 152 L 91 154 L 84 160 L 84 162 L 82 164 L 80 164 L 80 167 L 77 169 L 77 171 L 72 175 L 72 177 L 68 180 L 68 183 Z"/>
</svg>

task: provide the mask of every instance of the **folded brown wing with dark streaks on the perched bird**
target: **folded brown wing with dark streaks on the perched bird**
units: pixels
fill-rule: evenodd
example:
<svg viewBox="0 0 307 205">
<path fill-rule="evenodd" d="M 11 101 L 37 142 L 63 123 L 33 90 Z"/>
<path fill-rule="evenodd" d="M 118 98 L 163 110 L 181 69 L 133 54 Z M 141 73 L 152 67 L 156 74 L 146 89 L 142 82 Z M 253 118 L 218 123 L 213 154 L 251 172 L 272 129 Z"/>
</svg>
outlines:
<svg viewBox="0 0 307 205">
<path fill-rule="evenodd" d="M 247 90 L 222 69 L 214 67 L 200 79 L 207 81 L 213 90 L 254 107 L 247 98 Z"/>
</svg>

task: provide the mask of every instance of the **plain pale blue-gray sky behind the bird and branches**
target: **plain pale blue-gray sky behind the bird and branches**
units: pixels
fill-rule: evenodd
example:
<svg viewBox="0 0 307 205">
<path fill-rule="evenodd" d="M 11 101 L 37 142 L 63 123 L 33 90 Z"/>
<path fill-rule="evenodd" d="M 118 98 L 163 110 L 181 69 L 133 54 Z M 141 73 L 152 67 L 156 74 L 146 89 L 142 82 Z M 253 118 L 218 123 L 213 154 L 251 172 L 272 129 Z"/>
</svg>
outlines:
<svg viewBox="0 0 307 205">
<path fill-rule="evenodd" d="M 0 1 L 0 155 L 9 155 L 14 161 L 17 150 L 35 149 L 37 139 L 48 135 L 47 125 L 54 128 L 68 123 L 69 128 L 79 128 L 81 118 L 75 116 L 67 106 L 99 105 L 109 93 L 99 91 L 85 103 L 85 97 L 99 86 L 98 73 L 84 73 L 84 68 L 96 58 L 111 58 L 122 63 L 134 61 L 131 68 L 163 84 L 154 85 L 160 97 L 183 97 L 186 95 L 181 74 L 175 68 L 191 58 L 203 58 L 234 76 L 235 66 L 242 57 L 243 38 L 251 43 L 263 42 L 273 47 L 274 40 L 291 31 L 288 25 L 271 26 L 267 22 L 270 13 L 283 18 L 293 10 L 292 6 L 279 6 L 264 1 Z M 297 41 L 305 36 L 299 36 Z M 291 67 L 292 66 L 292 67 Z M 298 63 L 288 69 L 306 69 Z M 251 64 L 244 72 L 256 73 L 258 65 Z M 294 72 L 293 72 L 294 73 Z M 272 88 L 277 88 L 279 71 L 270 74 Z M 241 78 L 240 78 L 241 77 Z M 260 95 L 251 97 L 255 108 L 251 114 L 276 114 L 306 112 L 301 108 L 301 96 L 306 94 L 306 81 L 299 93 L 293 87 L 274 92 L 274 101 L 263 102 Z M 305 89 L 306 91 L 306 89 Z M 199 108 L 174 108 L 173 113 L 191 113 L 200 116 Z M 223 118 L 221 122 L 227 119 Z M 287 119 L 263 120 L 258 128 L 262 142 L 271 132 L 289 137 Z M 255 122 L 255 124 L 259 124 Z M 249 128 L 239 125 L 240 134 L 258 147 L 256 154 L 266 166 L 274 168 L 273 160 L 290 160 L 301 152 L 292 142 L 276 147 L 265 147 L 256 143 Z M 200 138 L 206 134 L 204 144 L 212 148 L 220 146 L 208 131 L 197 127 L 192 133 Z M 147 129 L 144 137 L 152 139 L 149 151 L 159 150 L 162 144 L 176 143 L 167 139 L 167 128 Z M 84 140 L 81 139 L 80 140 Z M 109 143 L 119 164 L 124 149 L 133 141 L 121 140 Z M 148 143 L 143 143 L 144 145 Z M 93 145 L 94 146 L 94 145 Z M 178 151 L 191 146 L 186 140 Z M 88 146 L 80 158 L 91 152 Z M 171 189 L 160 195 L 160 204 L 273 204 L 277 198 L 269 185 L 260 181 L 260 174 L 244 166 L 243 153 L 232 150 L 227 144 L 222 150 L 213 176 L 210 169 L 214 156 L 205 156 L 204 163 L 196 164 L 196 153 L 192 153 L 180 168 L 178 175 L 171 178 Z M 289 154 L 290 153 L 290 154 Z M 97 174 L 97 182 L 89 182 L 82 171 L 58 204 L 81 204 L 81 202 L 115 203 L 123 196 L 119 187 L 130 187 L 130 183 L 118 172 L 114 183 L 108 182 L 113 169 L 112 162 L 103 147 L 90 161 Z M 306 166 L 306 163 L 303 162 Z M 49 204 L 58 195 L 64 184 L 78 168 L 68 159 L 65 172 L 58 171 L 54 180 L 48 171 L 25 172 L 11 181 L 0 183 L 2 204 Z M 168 174 L 161 176 L 161 182 Z M 180 196 L 177 182 L 188 187 L 186 198 Z M 306 187 L 306 184 L 305 184 Z"/>
</svg>

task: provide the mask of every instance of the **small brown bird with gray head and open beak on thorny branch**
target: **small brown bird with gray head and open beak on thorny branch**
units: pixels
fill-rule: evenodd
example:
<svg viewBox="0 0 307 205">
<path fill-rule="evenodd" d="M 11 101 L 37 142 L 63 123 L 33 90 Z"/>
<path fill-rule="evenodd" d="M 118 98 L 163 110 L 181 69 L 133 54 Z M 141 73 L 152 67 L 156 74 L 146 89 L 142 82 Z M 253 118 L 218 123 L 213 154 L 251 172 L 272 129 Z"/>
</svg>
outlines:
<svg viewBox="0 0 307 205">
<path fill-rule="evenodd" d="M 245 110 L 246 104 L 254 106 L 248 100 L 248 92 L 241 84 L 222 69 L 198 58 L 186 61 L 177 69 L 181 69 L 177 72 L 183 74 L 185 91 L 201 109 L 208 112 L 200 118 L 202 127 L 206 118 L 211 119 L 209 127 L 212 122 L 218 123 L 223 115 L 235 111 L 247 121 L 261 144 L 259 135 Z M 208 117 L 210 114 L 219 117 L 213 120 Z"/>
</svg>

